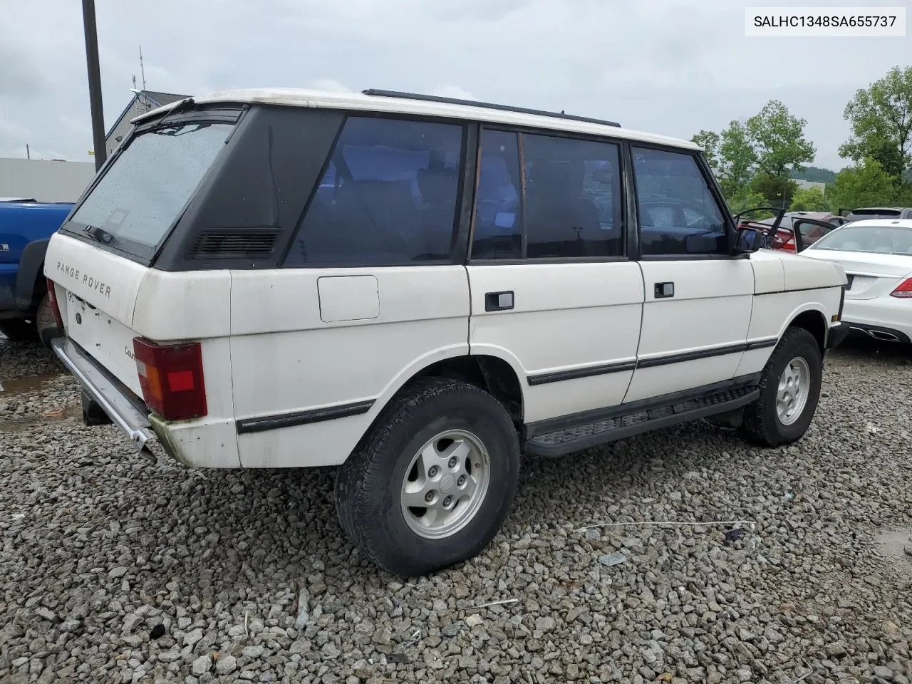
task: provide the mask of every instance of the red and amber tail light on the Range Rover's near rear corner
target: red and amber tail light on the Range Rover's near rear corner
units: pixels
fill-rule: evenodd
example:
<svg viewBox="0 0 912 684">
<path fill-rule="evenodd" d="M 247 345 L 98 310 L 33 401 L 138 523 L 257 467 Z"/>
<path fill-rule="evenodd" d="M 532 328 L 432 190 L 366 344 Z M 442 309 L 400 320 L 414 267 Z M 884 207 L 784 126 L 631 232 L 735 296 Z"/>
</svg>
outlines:
<svg viewBox="0 0 912 684">
<path fill-rule="evenodd" d="M 199 342 L 157 345 L 133 338 L 142 398 L 165 420 L 188 420 L 206 415 Z"/>
</svg>

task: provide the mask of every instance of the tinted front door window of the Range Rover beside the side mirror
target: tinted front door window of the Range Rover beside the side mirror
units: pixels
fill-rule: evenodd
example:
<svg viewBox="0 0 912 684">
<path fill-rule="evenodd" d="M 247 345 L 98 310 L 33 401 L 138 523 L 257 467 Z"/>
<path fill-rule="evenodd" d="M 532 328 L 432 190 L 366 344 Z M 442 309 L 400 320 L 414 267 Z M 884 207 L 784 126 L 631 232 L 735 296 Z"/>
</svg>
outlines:
<svg viewBox="0 0 912 684">
<path fill-rule="evenodd" d="M 640 252 L 727 254 L 719 202 L 693 155 L 633 148 Z"/>
</svg>

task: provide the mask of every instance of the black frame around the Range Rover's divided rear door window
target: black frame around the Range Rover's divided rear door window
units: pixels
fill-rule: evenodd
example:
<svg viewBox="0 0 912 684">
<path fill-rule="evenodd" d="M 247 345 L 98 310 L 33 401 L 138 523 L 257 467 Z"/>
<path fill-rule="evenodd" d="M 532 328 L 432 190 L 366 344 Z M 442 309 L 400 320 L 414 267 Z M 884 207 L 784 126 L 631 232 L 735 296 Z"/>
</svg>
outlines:
<svg viewBox="0 0 912 684">
<path fill-rule="evenodd" d="M 635 257 L 630 256 L 629 250 L 629 233 L 631 231 L 627 230 L 629 225 L 628 217 L 630 216 L 630 207 L 629 207 L 629 195 L 630 189 L 628 188 L 629 183 L 627 182 L 627 168 L 625 163 L 625 154 L 624 146 L 627 142 L 625 138 L 616 138 L 612 136 L 602 136 L 594 135 L 592 133 L 577 133 L 573 130 L 552 130 L 552 129 L 543 129 L 532 126 L 517 126 L 512 124 L 503 124 L 503 123 L 493 123 L 478 121 L 478 137 L 477 145 L 478 150 L 476 151 L 476 165 L 477 170 L 475 174 L 475 190 L 478 189 L 478 181 L 481 177 L 481 152 L 482 152 L 482 133 L 484 130 L 498 130 L 504 133 L 513 133 L 516 135 L 516 145 L 517 145 L 517 154 L 520 155 L 520 150 L 523 148 L 522 138 L 520 137 L 523 133 L 526 135 L 537 135 L 547 138 L 565 138 L 568 140 L 580 140 L 583 142 L 601 142 L 610 145 L 615 145 L 617 147 L 617 158 L 619 162 L 619 181 L 620 181 L 620 197 L 621 197 L 621 249 L 624 251 L 624 254 L 617 254 L 615 256 L 540 256 L 540 257 L 528 257 L 521 256 L 515 259 L 472 259 L 472 243 L 475 240 L 475 205 L 472 202 L 472 229 L 469 233 L 469 244 L 467 245 L 467 260 L 466 265 L 472 266 L 484 266 L 484 265 L 498 265 L 503 264 L 505 266 L 511 265 L 523 265 L 523 264 L 623 264 L 628 261 L 634 260 Z M 525 182 L 524 182 L 525 171 L 523 167 L 523 159 L 520 155 L 520 215 L 523 218 L 523 254 L 525 254 L 526 246 L 526 232 L 525 232 Z M 636 212 L 633 214 L 636 215 Z"/>
</svg>

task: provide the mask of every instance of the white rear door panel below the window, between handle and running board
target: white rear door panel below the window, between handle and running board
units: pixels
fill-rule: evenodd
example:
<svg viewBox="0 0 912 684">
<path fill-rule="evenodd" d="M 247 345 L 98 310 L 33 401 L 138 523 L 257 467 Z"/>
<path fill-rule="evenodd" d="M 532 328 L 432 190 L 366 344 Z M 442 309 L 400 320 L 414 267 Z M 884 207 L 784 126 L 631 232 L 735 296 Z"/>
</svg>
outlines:
<svg viewBox="0 0 912 684">
<path fill-rule="evenodd" d="M 472 354 L 502 358 L 521 383 L 531 378 L 523 388 L 523 420 L 623 401 L 637 359 L 643 309 L 639 264 L 472 264 L 467 269 Z M 513 292 L 513 309 L 485 311 L 485 294 L 504 291 Z M 586 374 L 609 365 L 631 368 Z M 552 380 L 561 377 L 567 379 Z"/>
</svg>

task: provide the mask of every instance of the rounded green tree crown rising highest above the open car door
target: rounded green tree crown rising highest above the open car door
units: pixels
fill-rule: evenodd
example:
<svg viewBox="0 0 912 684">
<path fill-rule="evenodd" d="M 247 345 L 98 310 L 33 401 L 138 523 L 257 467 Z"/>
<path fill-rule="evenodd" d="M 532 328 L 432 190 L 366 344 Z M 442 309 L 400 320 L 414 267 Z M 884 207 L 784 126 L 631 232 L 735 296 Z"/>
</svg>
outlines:
<svg viewBox="0 0 912 684">
<path fill-rule="evenodd" d="M 787 178 L 814 161 L 814 144 L 804 140 L 807 121 L 794 117 L 778 99 L 771 99 L 747 119 L 747 131 L 757 154 L 757 168 L 773 178 Z"/>
</svg>

